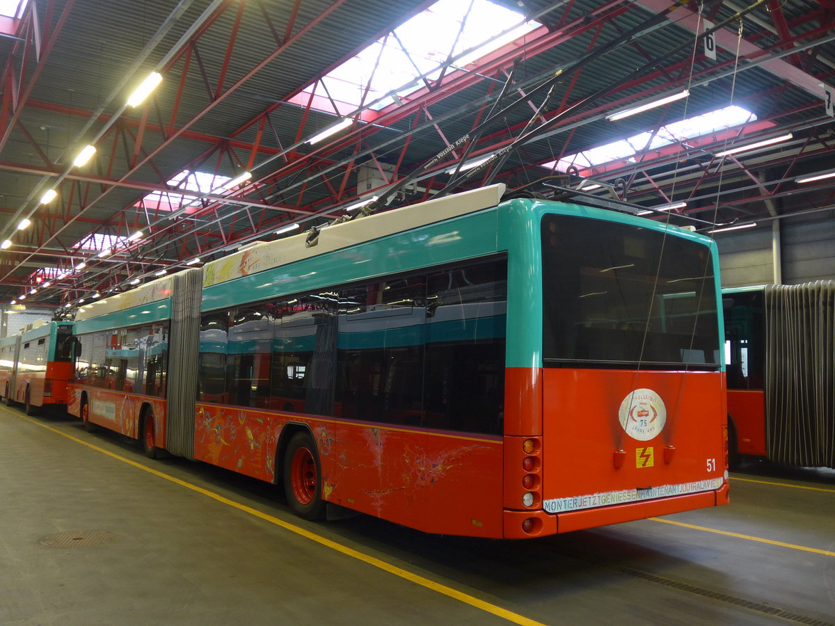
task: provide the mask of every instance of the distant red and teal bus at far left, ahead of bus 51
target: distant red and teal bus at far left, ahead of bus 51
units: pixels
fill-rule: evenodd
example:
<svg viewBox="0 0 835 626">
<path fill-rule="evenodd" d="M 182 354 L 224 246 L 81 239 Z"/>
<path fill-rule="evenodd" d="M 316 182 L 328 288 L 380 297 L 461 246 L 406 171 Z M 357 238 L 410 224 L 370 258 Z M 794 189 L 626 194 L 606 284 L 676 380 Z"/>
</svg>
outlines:
<svg viewBox="0 0 835 626">
<path fill-rule="evenodd" d="M 0 393 L 7 405 L 20 402 L 27 415 L 66 406 L 72 334 L 72 321 L 49 321 L 0 339 Z"/>
</svg>

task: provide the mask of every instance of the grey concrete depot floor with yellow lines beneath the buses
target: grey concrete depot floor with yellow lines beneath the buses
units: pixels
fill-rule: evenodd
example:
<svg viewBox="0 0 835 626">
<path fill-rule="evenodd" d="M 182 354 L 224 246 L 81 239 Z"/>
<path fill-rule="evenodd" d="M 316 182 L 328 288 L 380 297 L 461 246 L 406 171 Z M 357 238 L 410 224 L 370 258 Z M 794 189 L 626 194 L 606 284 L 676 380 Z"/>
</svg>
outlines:
<svg viewBox="0 0 835 626">
<path fill-rule="evenodd" d="M 67 417 L 0 407 L 0 442 L 3 625 L 835 623 L 835 472 L 752 466 L 730 507 L 501 542 L 306 523 Z M 111 540 L 41 543 L 84 532 Z"/>
</svg>

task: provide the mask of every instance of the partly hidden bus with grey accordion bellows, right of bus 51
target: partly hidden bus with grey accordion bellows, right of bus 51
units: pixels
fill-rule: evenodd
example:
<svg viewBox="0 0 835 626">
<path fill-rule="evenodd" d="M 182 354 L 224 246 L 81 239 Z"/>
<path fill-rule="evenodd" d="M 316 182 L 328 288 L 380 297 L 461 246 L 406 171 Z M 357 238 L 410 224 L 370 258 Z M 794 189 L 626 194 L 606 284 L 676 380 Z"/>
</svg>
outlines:
<svg viewBox="0 0 835 626">
<path fill-rule="evenodd" d="M 835 468 L 835 281 L 722 290 L 731 464 Z"/>
</svg>

